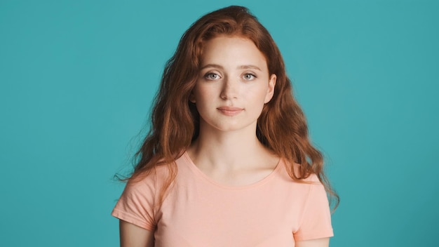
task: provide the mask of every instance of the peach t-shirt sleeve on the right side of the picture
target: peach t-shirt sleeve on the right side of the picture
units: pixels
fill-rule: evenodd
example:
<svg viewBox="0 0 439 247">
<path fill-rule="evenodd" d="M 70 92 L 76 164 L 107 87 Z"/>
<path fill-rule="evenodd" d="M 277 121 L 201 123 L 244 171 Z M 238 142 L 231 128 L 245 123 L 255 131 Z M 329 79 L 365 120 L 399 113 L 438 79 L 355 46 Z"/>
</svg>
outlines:
<svg viewBox="0 0 439 247">
<path fill-rule="evenodd" d="M 295 241 L 334 236 L 329 202 L 325 187 L 320 182 L 309 185 L 309 194 L 300 222 L 299 229 L 293 233 Z"/>
</svg>

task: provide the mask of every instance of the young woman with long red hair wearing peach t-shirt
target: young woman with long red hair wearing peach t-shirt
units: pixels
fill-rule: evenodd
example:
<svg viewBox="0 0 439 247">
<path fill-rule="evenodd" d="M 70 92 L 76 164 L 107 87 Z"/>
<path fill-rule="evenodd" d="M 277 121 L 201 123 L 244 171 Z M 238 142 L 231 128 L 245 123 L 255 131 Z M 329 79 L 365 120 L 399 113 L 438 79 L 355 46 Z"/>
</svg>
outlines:
<svg viewBox="0 0 439 247">
<path fill-rule="evenodd" d="M 112 213 L 121 246 L 329 245 L 337 195 L 281 53 L 246 8 L 187 30 L 151 120 Z"/>
</svg>

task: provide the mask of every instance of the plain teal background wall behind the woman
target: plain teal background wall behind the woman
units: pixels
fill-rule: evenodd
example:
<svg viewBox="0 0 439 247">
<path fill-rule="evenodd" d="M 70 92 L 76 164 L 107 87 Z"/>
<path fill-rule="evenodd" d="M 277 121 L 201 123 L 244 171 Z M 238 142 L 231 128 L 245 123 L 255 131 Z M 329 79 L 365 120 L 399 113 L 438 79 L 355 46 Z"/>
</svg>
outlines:
<svg viewBox="0 0 439 247">
<path fill-rule="evenodd" d="M 110 216 L 163 65 L 245 5 L 342 202 L 331 246 L 438 246 L 438 1 L 0 1 L 0 246 L 119 246 Z"/>
</svg>

